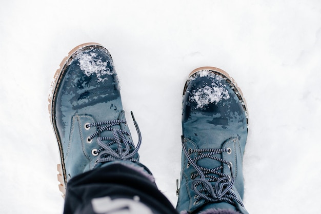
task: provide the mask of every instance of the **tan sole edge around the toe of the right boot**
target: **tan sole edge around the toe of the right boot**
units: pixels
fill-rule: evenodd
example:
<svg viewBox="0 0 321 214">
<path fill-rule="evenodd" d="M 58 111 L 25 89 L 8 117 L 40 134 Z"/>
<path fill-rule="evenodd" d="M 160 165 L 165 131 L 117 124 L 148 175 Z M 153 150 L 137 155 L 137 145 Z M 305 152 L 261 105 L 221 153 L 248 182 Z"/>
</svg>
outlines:
<svg viewBox="0 0 321 214">
<path fill-rule="evenodd" d="M 249 125 L 249 112 L 248 112 L 248 108 L 247 108 L 247 103 L 246 100 L 244 98 L 243 92 L 242 90 L 237 86 L 237 83 L 235 82 L 235 80 L 224 70 L 219 69 L 219 68 L 215 68 L 215 67 L 200 67 L 200 68 L 196 68 L 194 69 L 189 75 L 188 77 L 194 75 L 195 73 L 199 72 L 199 71 L 203 71 L 203 70 L 209 70 L 215 74 L 218 74 L 220 76 L 222 76 L 223 78 L 226 78 L 228 84 L 232 87 L 232 89 L 234 90 L 235 94 L 237 95 L 237 98 L 239 100 L 239 102 L 242 104 L 243 109 L 246 113 L 246 124 Z M 185 83 L 185 87 L 184 87 L 184 91 L 183 91 L 183 95 L 185 94 L 187 89 L 187 82 Z"/>
</svg>

